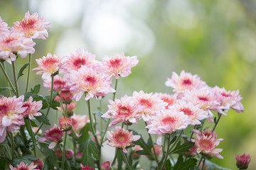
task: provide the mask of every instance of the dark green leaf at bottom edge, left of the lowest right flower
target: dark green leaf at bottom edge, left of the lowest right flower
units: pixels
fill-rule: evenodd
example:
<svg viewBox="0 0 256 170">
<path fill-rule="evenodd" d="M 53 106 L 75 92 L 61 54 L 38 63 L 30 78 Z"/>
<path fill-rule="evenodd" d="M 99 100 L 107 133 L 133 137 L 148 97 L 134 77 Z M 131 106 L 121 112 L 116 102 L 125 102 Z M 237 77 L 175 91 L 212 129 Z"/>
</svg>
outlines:
<svg viewBox="0 0 256 170">
<path fill-rule="evenodd" d="M 188 159 L 185 162 L 183 162 L 183 157 L 180 155 L 178 157 L 178 161 L 174 165 L 174 170 L 194 169 L 194 166 L 196 166 L 196 162 L 196 159 Z"/>
</svg>

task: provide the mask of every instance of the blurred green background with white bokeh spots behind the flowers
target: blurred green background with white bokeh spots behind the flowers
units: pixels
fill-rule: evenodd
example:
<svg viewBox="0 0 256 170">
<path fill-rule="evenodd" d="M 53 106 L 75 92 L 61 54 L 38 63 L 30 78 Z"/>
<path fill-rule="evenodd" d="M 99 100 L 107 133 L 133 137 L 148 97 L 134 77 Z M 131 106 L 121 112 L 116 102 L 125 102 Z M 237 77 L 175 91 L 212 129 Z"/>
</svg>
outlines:
<svg viewBox="0 0 256 170">
<path fill-rule="evenodd" d="M 219 145 L 225 159 L 213 161 L 236 169 L 235 154 L 246 152 L 252 156 L 249 169 L 256 169 L 256 1 L 0 1 L 0 16 L 10 27 L 28 10 L 51 23 L 49 38 L 35 40 L 34 58 L 48 52 L 70 55 L 78 48 L 94 53 L 98 60 L 117 52 L 137 55 L 139 64 L 129 77 L 120 79 L 117 97 L 139 90 L 171 93 L 164 85 L 166 78 L 183 69 L 198 74 L 209 86 L 239 89 L 245 112 L 229 111 L 220 120 L 216 131 L 225 139 Z M 6 67 L 11 74 L 11 67 Z M 31 86 L 43 82 L 35 72 L 32 77 Z"/>
</svg>

